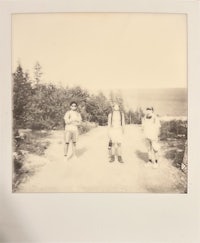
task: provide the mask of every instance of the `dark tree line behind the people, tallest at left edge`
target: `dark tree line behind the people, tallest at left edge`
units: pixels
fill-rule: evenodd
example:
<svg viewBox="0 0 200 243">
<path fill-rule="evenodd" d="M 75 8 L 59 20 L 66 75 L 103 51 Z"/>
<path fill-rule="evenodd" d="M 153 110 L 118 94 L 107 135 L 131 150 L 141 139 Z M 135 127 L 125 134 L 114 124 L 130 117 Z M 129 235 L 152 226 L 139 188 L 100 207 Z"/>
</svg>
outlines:
<svg viewBox="0 0 200 243">
<path fill-rule="evenodd" d="M 63 128 L 63 116 L 72 100 L 78 103 L 83 121 L 106 125 L 111 104 L 117 102 L 125 114 L 126 123 L 141 123 L 142 110 L 126 110 L 120 93 L 111 92 L 106 97 L 102 92 L 90 94 L 80 86 L 70 88 L 41 82 L 42 71 L 39 63 L 34 67 L 33 80 L 20 64 L 12 76 L 13 125 L 16 129 Z"/>
</svg>

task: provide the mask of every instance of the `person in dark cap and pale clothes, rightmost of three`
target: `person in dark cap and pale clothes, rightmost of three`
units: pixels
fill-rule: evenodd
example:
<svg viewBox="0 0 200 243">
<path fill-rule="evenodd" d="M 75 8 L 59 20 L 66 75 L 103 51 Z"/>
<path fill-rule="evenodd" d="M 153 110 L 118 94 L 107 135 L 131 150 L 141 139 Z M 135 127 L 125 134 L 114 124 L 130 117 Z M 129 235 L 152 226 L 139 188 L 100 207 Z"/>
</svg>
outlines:
<svg viewBox="0 0 200 243">
<path fill-rule="evenodd" d="M 153 107 L 146 109 L 146 114 L 142 120 L 142 127 L 148 150 L 148 162 L 146 165 L 158 166 L 159 133 L 160 121 L 154 114 Z"/>
</svg>

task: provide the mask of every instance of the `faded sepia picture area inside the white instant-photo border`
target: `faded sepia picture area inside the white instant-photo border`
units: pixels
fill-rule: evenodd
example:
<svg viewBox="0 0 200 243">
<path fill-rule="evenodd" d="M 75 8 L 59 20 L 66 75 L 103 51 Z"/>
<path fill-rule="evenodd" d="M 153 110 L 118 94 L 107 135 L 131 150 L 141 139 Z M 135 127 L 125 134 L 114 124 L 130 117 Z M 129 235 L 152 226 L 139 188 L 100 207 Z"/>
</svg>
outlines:
<svg viewBox="0 0 200 243">
<path fill-rule="evenodd" d="M 15 193 L 187 193 L 187 16 L 12 15 Z"/>
</svg>

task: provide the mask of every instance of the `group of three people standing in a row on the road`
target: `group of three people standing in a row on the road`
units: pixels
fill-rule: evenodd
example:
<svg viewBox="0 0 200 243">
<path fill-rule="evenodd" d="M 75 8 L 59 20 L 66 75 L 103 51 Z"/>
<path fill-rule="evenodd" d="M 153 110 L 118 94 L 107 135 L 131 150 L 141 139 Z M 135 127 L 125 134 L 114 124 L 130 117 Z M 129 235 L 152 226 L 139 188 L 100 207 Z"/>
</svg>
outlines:
<svg viewBox="0 0 200 243">
<path fill-rule="evenodd" d="M 72 155 L 76 157 L 76 143 L 78 138 L 78 126 L 81 124 L 81 115 L 77 111 L 77 103 L 70 103 L 70 110 L 64 116 L 64 155 L 68 156 L 69 143 L 72 142 Z M 160 122 L 154 114 L 153 107 L 146 109 L 146 114 L 142 119 L 142 127 L 148 151 L 148 162 L 146 165 L 158 165 L 159 150 L 159 130 Z M 108 115 L 108 138 L 109 138 L 109 162 L 114 162 L 117 158 L 119 163 L 124 163 L 122 158 L 122 144 L 125 131 L 125 116 L 119 105 L 115 103 L 112 111 Z"/>
</svg>

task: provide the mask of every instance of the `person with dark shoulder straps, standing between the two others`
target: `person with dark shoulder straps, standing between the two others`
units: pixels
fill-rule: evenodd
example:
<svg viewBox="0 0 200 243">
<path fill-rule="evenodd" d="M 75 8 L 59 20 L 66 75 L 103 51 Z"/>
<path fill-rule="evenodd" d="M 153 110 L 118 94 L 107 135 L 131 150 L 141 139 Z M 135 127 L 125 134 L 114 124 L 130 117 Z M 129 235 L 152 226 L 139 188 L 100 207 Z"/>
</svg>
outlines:
<svg viewBox="0 0 200 243">
<path fill-rule="evenodd" d="M 108 115 L 110 162 L 114 162 L 115 156 L 117 156 L 118 162 L 123 163 L 121 146 L 125 128 L 125 118 L 118 104 L 114 104 L 112 108 L 113 111 Z"/>
</svg>

